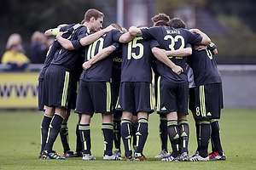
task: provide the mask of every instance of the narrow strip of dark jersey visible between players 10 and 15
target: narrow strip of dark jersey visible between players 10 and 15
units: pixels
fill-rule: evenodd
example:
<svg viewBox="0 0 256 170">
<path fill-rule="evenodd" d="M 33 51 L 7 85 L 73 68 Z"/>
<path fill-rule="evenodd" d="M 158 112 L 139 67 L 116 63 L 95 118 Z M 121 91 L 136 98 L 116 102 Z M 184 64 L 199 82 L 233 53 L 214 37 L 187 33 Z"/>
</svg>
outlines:
<svg viewBox="0 0 256 170">
<path fill-rule="evenodd" d="M 120 46 L 119 49 L 113 52 L 111 88 L 113 88 L 114 90 L 119 90 L 119 86 L 121 82 L 121 65 L 122 65 L 122 50 Z"/>
</svg>

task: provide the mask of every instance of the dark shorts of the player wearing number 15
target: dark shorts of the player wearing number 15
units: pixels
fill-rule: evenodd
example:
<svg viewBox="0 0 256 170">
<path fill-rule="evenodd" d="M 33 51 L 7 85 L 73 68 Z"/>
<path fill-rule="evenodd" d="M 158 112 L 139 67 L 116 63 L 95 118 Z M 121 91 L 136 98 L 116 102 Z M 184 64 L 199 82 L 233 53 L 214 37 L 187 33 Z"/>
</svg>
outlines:
<svg viewBox="0 0 256 170">
<path fill-rule="evenodd" d="M 119 100 L 116 106 L 118 111 L 154 112 L 152 85 L 150 82 L 121 82 Z"/>
</svg>

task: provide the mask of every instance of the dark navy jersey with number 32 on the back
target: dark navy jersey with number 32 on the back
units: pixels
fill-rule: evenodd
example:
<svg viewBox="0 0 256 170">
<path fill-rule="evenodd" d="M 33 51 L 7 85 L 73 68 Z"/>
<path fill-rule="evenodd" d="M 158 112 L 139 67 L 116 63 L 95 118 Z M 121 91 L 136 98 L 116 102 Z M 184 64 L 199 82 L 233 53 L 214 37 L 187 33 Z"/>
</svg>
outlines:
<svg viewBox="0 0 256 170">
<path fill-rule="evenodd" d="M 200 44 L 202 39 L 199 34 L 192 33 L 183 28 L 174 29 L 172 27 L 156 26 L 148 29 L 144 28 L 141 29 L 141 31 L 143 32 L 143 37 L 157 40 L 160 44 L 160 48 L 166 50 L 185 48 L 189 43 Z M 185 71 L 185 58 L 171 57 L 170 59 L 174 64 L 181 66 L 183 71 Z M 157 71 L 167 82 L 182 83 L 188 81 L 186 72 L 177 75 L 169 66 L 160 61 L 157 62 Z"/>
</svg>

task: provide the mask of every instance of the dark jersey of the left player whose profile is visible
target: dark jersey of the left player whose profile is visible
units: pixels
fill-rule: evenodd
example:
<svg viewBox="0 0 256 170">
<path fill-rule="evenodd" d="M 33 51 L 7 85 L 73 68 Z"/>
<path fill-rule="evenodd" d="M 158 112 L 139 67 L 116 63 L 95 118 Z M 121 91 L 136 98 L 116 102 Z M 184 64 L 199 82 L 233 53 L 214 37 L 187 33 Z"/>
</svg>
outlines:
<svg viewBox="0 0 256 170">
<path fill-rule="evenodd" d="M 73 69 L 79 57 L 84 54 L 84 47 L 80 43 L 80 39 L 88 35 L 86 26 L 79 26 L 67 39 L 72 42 L 74 49 L 67 50 L 61 47 L 61 50 L 51 62 L 51 65 L 61 65 L 67 69 Z"/>
</svg>

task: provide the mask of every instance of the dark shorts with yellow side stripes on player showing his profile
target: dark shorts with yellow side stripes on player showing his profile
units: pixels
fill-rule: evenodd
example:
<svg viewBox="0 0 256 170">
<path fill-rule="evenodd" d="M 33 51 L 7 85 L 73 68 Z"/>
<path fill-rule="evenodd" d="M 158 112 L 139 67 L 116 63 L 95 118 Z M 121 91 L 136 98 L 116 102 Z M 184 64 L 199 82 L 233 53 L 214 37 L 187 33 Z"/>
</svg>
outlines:
<svg viewBox="0 0 256 170">
<path fill-rule="evenodd" d="M 72 76 L 61 66 L 50 65 L 43 81 L 43 104 L 67 109 L 71 93 Z"/>
</svg>

